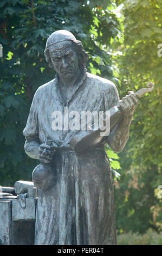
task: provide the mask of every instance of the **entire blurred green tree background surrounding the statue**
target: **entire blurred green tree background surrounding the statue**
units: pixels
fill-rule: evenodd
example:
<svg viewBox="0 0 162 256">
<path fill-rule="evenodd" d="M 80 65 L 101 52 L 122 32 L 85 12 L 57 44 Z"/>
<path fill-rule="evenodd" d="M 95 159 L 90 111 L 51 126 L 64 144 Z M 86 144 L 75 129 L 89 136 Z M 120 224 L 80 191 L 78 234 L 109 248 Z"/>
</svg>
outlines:
<svg viewBox="0 0 162 256">
<path fill-rule="evenodd" d="M 135 111 L 125 149 L 111 163 L 118 245 L 162 245 L 162 1 L 1 0 L 0 185 L 31 180 L 39 161 L 24 152 L 36 89 L 55 76 L 43 55 L 48 36 L 67 29 L 89 54 L 88 72 L 113 81 L 120 99 L 155 84 Z"/>
</svg>

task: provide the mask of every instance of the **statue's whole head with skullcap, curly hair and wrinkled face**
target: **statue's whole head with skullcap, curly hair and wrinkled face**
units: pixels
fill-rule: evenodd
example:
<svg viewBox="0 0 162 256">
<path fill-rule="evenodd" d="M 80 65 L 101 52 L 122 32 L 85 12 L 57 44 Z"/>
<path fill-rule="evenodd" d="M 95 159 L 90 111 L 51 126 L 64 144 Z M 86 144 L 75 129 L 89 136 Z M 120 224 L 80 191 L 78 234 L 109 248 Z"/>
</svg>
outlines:
<svg viewBox="0 0 162 256">
<path fill-rule="evenodd" d="M 81 41 L 69 31 L 56 31 L 49 36 L 44 56 L 50 68 L 56 70 L 60 77 L 73 77 L 78 69 L 86 69 L 88 53 L 83 50 Z"/>
</svg>

